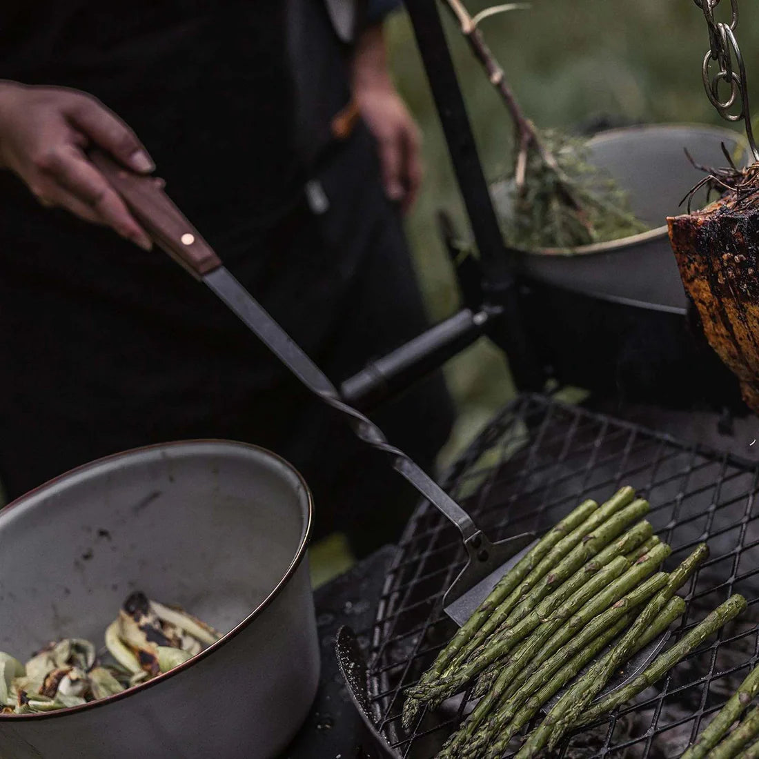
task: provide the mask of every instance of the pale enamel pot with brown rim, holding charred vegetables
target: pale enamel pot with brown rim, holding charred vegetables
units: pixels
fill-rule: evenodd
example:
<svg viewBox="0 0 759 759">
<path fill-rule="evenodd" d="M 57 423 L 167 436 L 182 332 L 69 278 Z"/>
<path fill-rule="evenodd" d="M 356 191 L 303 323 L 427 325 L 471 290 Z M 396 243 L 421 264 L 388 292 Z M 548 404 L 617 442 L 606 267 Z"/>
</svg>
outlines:
<svg viewBox="0 0 759 759">
<path fill-rule="evenodd" d="M 150 682 L 57 712 L 0 715 L 3 759 L 266 759 L 307 716 L 319 646 L 310 493 L 239 442 L 137 449 L 0 511 L 0 650 L 103 634 L 132 591 L 224 635 Z"/>
</svg>

